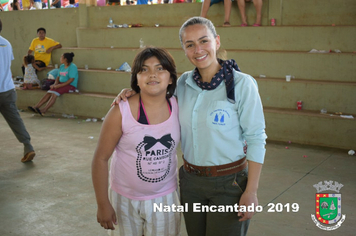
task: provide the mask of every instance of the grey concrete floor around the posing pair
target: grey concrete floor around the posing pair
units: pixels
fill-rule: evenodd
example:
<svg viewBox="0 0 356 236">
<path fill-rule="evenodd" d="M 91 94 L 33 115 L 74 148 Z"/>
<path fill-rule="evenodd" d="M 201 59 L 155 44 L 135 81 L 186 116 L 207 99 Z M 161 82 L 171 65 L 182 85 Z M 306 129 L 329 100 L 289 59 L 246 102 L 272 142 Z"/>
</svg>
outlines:
<svg viewBox="0 0 356 236">
<path fill-rule="evenodd" d="M 29 112 L 21 116 L 37 155 L 33 162 L 20 162 L 22 145 L 0 116 L 0 236 L 107 235 L 96 222 L 90 174 L 101 122 Z M 264 209 L 253 217 L 248 235 L 356 235 L 355 169 L 356 156 L 344 150 L 268 143 L 259 188 Z M 344 185 L 346 220 L 331 232 L 311 220 L 313 185 L 324 180 Z M 269 203 L 298 203 L 299 211 L 267 212 Z"/>
</svg>

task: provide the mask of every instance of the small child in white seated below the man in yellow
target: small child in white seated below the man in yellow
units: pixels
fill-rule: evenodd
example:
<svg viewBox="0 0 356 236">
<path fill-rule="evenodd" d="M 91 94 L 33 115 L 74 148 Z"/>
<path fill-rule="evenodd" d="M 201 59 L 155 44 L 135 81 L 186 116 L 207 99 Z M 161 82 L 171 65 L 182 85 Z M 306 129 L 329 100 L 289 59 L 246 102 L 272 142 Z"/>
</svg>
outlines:
<svg viewBox="0 0 356 236">
<path fill-rule="evenodd" d="M 24 56 L 23 65 L 25 67 L 25 76 L 22 89 L 33 89 L 34 86 L 39 86 L 40 81 L 37 78 L 36 69 L 41 71 L 46 69 L 46 67 L 38 67 L 35 63 L 35 57 L 33 55 Z"/>
</svg>

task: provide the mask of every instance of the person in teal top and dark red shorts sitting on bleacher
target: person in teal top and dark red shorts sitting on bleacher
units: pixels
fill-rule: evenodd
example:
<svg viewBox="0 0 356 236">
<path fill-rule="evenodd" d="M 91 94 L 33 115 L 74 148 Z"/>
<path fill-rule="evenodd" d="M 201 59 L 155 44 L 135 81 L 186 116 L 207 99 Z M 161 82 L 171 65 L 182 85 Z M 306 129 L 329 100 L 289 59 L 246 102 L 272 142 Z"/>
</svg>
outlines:
<svg viewBox="0 0 356 236">
<path fill-rule="evenodd" d="M 34 106 L 29 106 L 28 109 L 43 116 L 49 108 L 56 102 L 57 97 L 64 93 L 74 92 L 78 86 L 78 68 L 73 63 L 74 53 L 67 52 L 61 56 L 62 65 L 59 67 L 59 76 L 50 90 L 41 98 L 41 100 Z M 45 103 L 46 106 L 40 109 Z"/>
</svg>

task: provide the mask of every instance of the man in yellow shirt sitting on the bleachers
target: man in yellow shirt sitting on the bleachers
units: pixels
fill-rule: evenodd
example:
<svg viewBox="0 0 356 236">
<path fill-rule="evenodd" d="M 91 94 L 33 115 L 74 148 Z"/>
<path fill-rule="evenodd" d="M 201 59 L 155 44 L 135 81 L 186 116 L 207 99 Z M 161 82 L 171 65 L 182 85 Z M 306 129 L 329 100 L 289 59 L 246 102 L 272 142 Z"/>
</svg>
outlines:
<svg viewBox="0 0 356 236">
<path fill-rule="evenodd" d="M 45 28 L 38 28 L 37 36 L 38 38 L 32 40 L 30 48 L 28 50 L 28 54 L 32 54 L 32 52 L 35 52 L 34 56 L 36 64 L 39 67 L 46 67 L 51 61 L 52 51 L 54 49 L 61 48 L 62 45 L 51 38 L 47 38 Z"/>
</svg>

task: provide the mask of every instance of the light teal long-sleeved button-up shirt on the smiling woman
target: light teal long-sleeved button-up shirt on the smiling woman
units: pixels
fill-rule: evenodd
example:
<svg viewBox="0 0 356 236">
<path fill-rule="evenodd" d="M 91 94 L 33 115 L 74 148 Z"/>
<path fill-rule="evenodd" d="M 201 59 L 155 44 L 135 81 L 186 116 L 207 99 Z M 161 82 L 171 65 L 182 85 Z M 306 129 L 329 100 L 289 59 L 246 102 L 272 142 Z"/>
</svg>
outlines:
<svg viewBox="0 0 356 236">
<path fill-rule="evenodd" d="M 214 90 L 203 90 L 192 75 L 185 72 L 176 90 L 184 158 L 197 166 L 235 162 L 245 156 L 246 140 L 247 160 L 263 163 L 267 136 L 256 80 L 234 70 L 232 104 L 224 81 Z"/>
</svg>

